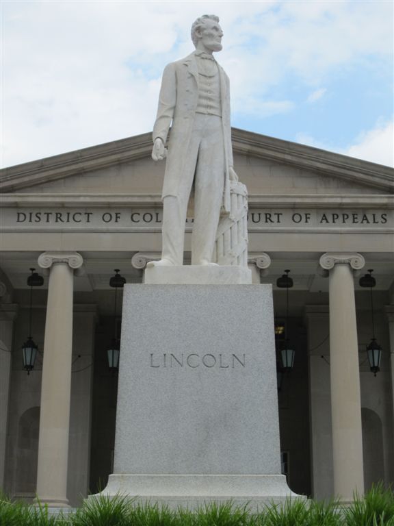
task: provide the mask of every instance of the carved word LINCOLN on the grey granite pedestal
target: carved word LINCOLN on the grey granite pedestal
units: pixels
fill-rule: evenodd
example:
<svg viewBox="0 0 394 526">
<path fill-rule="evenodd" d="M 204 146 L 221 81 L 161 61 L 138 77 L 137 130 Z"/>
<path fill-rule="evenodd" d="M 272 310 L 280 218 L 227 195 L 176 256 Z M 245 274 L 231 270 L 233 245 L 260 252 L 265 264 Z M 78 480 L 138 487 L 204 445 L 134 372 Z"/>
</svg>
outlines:
<svg viewBox="0 0 394 526">
<path fill-rule="evenodd" d="M 213 367 L 219 369 L 235 369 L 246 366 L 246 356 L 236 354 L 173 354 L 173 353 L 150 353 L 150 367 L 153 368 L 191 368 Z"/>
</svg>

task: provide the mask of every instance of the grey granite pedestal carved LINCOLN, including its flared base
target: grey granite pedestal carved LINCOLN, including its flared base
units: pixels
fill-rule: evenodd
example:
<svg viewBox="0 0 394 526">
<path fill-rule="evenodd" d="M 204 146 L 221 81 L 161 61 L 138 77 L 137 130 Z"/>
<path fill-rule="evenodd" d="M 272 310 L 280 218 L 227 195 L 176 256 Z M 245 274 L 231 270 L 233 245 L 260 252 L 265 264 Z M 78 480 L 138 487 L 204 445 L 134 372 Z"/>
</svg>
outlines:
<svg viewBox="0 0 394 526">
<path fill-rule="evenodd" d="M 293 495 L 280 475 L 269 285 L 126 285 L 104 494 L 194 508 Z"/>
</svg>

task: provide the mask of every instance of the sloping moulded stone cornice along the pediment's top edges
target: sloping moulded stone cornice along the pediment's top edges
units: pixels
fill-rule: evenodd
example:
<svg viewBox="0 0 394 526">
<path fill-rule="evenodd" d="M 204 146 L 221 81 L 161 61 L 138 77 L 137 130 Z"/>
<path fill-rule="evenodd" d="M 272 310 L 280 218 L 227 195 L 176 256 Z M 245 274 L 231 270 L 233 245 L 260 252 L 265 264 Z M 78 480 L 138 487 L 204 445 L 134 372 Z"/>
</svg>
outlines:
<svg viewBox="0 0 394 526">
<path fill-rule="evenodd" d="M 152 135 L 147 133 L 10 166 L 0 171 L 0 192 L 17 192 L 22 188 L 34 191 L 34 186 L 71 175 L 150 158 L 151 149 Z M 389 166 L 237 128 L 233 128 L 233 151 L 394 193 L 394 169 Z"/>
</svg>

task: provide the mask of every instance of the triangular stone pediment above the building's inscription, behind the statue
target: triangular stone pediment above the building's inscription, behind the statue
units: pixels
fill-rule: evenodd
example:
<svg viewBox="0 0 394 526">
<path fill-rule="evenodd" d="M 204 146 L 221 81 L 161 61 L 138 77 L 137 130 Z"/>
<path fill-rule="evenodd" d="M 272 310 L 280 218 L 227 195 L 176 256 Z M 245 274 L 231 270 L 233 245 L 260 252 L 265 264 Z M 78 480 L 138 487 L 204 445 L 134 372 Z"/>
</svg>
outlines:
<svg viewBox="0 0 394 526">
<path fill-rule="evenodd" d="M 150 157 L 150 133 L 55 155 L 0 173 L 8 194 L 159 195 L 164 163 Z M 394 170 L 233 129 L 235 170 L 250 195 L 390 195 Z"/>
</svg>

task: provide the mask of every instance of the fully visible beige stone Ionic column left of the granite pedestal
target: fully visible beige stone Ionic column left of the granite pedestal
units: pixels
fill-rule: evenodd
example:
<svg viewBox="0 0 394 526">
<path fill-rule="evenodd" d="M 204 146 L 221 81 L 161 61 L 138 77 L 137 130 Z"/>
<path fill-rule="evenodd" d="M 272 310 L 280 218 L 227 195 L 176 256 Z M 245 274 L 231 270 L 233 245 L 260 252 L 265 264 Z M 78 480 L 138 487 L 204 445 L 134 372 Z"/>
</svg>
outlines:
<svg viewBox="0 0 394 526">
<path fill-rule="evenodd" d="M 74 269 L 79 253 L 42 253 L 38 264 L 50 268 L 42 362 L 37 497 L 51 507 L 68 505 L 67 462 L 70 427 Z"/>
</svg>

